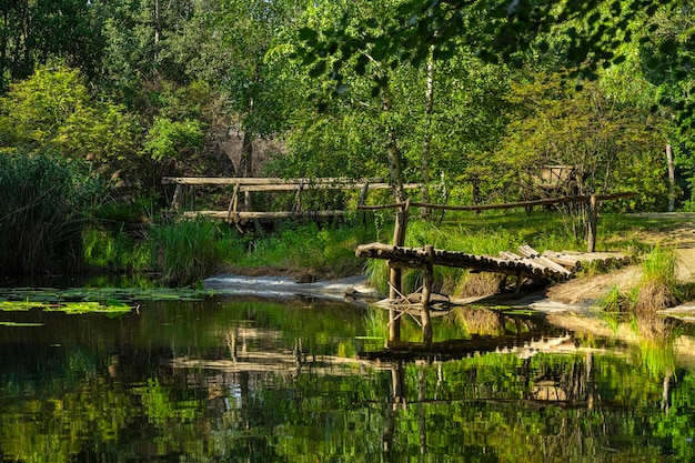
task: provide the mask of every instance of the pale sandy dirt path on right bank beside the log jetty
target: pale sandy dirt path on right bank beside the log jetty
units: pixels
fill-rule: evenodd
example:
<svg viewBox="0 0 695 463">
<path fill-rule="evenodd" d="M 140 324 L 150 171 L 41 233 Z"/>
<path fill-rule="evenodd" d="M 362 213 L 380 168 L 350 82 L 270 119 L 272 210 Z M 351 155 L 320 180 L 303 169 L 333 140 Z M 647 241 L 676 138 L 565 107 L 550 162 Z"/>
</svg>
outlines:
<svg viewBox="0 0 695 463">
<path fill-rule="evenodd" d="M 689 215 L 695 219 L 695 214 L 678 214 L 678 218 L 689 219 Z M 658 215 L 655 214 L 654 217 Z M 684 282 L 695 281 L 695 221 L 688 224 L 681 223 L 669 231 L 642 231 L 635 238 L 644 243 L 676 246 L 678 279 Z M 621 290 L 628 290 L 638 283 L 641 274 L 641 265 L 637 263 L 611 273 L 556 284 L 548 289 L 547 298 L 563 304 L 581 304 L 603 298 L 615 286 Z"/>
</svg>

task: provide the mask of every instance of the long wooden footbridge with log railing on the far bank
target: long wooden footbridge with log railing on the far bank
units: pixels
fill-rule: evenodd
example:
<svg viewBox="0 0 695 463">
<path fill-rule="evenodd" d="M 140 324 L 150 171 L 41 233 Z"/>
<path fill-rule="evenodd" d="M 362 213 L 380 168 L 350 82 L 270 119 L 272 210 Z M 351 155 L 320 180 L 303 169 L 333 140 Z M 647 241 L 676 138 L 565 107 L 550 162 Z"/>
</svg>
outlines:
<svg viewBox="0 0 695 463">
<path fill-rule="evenodd" d="M 392 185 L 383 179 L 345 179 L 345 178 L 316 178 L 316 179 L 279 179 L 279 178 L 210 178 L 210 177 L 165 177 L 164 185 L 177 185 L 173 193 L 171 209 L 183 218 L 205 217 L 223 220 L 228 223 L 245 223 L 253 220 L 275 220 L 291 218 L 323 218 L 341 217 L 345 210 L 310 210 L 302 202 L 304 194 L 311 191 L 359 191 L 357 207 L 366 204 L 370 191 L 387 190 Z M 193 188 L 201 187 L 226 187 L 231 188 L 229 205 L 225 210 L 185 210 L 187 195 L 192 195 Z M 407 183 L 405 189 L 419 189 L 420 183 Z M 253 211 L 251 193 L 294 192 L 294 199 L 290 207 L 283 211 Z"/>
</svg>

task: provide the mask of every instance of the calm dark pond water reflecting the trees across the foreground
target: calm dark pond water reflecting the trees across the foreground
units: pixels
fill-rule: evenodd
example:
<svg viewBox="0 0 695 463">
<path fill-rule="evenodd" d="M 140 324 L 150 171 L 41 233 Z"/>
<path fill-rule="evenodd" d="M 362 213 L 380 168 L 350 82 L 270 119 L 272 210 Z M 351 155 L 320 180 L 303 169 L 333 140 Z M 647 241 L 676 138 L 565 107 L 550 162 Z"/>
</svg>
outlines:
<svg viewBox="0 0 695 463">
<path fill-rule="evenodd" d="M 2 461 L 695 459 L 687 325 L 633 320 L 643 335 L 621 341 L 476 311 L 435 321 L 439 341 L 466 340 L 445 355 L 357 360 L 383 346 L 384 315 L 229 296 L 0 312 Z"/>
</svg>

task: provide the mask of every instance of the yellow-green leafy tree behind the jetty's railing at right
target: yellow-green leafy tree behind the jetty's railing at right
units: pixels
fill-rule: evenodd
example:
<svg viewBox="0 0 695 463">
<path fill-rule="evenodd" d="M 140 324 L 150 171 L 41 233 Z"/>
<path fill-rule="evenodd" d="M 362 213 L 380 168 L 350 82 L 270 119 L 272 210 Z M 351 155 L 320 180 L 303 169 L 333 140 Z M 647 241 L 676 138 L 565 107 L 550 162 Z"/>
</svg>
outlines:
<svg viewBox="0 0 695 463">
<path fill-rule="evenodd" d="M 647 110 L 611 100 L 596 84 L 577 91 L 556 74 L 513 85 L 510 99 L 520 110 L 494 158 L 506 172 L 502 184 L 518 188 L 523 179 L 522 191 L 531 191 L 545 167 L 565 165 L 572 172 L 565 194 L 636 190 L 632 208 L 665 204 L 665 137 Z"/>
</svg>

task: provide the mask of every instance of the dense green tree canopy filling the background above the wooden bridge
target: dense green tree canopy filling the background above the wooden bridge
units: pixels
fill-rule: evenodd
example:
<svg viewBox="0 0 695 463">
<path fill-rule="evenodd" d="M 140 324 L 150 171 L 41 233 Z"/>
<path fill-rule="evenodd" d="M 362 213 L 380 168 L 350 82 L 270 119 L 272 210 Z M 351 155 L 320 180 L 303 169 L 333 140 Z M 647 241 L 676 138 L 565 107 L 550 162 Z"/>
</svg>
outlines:
<svg viewBox="0 0 695 463">
<path fill-rule="evenodd" d="M 624 170 L 657 165 L 638 184 L 655 200 L 632 207 L 658 209 L 678 191 L 668 143 L 691 203 L 686 1 L 10 3 L 2 147 L 95 155 L 135 188 L 163 174 L 376 174 L 399 200 L 417 181 L 433 201 L 494 202 L 552 161 L 593 172 L 592 191 L 636 188 Z M 587 152 L 620 159 L 620 174 Z"/>
</svg>

